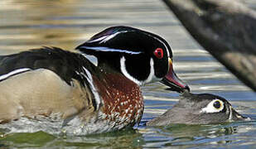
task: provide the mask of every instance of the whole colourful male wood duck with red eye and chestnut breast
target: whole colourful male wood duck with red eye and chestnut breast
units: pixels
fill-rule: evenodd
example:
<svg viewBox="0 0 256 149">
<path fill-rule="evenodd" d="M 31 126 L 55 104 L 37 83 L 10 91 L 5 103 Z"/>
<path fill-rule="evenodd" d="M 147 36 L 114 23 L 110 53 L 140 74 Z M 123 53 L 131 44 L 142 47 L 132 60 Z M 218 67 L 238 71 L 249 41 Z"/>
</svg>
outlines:
<svg viewBox="0 0 256 149">
<path fill-rule="evenodd" d="M 109 132 L 140 122 L 140 85 L 162 81 L 173 91 L 189 89 L 172 69 L 167 41 L 150 32 L 114 26 L 76 50 L 43 47 L 0 56 L 0 127 L 33 132 L 21 127 L 51 121 L 66 133 Z"/>
</svg>

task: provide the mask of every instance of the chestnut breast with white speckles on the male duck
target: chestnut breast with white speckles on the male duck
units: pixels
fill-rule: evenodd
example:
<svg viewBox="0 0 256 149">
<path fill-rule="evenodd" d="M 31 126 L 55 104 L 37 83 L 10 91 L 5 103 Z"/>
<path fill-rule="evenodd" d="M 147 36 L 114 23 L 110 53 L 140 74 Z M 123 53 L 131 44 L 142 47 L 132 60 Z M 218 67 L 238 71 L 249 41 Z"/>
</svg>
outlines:
<svg viewBox="0 0 256 149">
<path fill-rule="evenodd" d="M 142 118 L 143 97 L 138 84 L 122 74 L 106 74 L 104 81 L 94 78 L 103 100 L 100 108 L 115 125 L 133 126 Z"/>
</svg>

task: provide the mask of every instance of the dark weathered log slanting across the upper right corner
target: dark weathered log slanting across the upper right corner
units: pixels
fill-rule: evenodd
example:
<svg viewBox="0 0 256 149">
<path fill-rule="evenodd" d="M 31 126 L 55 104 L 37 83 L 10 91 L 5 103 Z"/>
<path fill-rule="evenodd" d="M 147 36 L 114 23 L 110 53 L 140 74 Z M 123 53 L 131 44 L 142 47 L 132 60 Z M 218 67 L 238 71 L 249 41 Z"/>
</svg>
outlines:
<svg viewBox="0 0 256 149">
<path fill-rule="evenodd" d="M 163 0 L 205 50 L 256 91 L 256 12 L 235 0 Z"/>
</svg>

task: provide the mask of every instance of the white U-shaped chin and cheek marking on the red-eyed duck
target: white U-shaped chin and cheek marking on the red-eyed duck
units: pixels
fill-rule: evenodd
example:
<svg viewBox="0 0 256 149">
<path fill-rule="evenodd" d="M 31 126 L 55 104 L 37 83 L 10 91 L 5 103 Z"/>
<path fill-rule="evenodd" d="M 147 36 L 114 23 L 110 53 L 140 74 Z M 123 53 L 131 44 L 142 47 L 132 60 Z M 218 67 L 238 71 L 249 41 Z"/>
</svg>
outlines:
<svg viewBox="0 0 256 149">
<path fill-rule="evenodd" d="M 154 71 L 154 61 L 152 59 L 150 59 L 150 73 L 147 77 L 147 79 L 145 80 L 138 80 L 138 79 L 135 79 L 132 75 L 130 75 L 128 73 L 128 71 L 126 70 L 126 65 L 125 65 L 125 58 L 124 56 L 121 58 L 120 60 L 120 65 L 121 65 L 121 71 L 122 73 L 128 78 L 128 79 L 131 79 L 134 83 L 138 84 L 138 85 L 143 85 L 143 84 L 147 84 L 149 82 L 152 82 L 152 81 L 157 81 L 158 79 L 156 78 L 155 76 L 155 71 Z"/>
</svg>

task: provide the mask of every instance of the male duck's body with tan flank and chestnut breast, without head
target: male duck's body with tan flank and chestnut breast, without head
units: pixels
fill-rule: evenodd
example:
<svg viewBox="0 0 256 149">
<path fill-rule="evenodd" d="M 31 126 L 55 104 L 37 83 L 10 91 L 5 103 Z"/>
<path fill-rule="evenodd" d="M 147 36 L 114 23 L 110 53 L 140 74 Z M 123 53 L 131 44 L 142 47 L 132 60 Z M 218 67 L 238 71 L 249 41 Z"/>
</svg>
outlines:
<svg viewBox="0 0 256 149">
<path fill-rule="evenodd" d="M 76 131 L 72 128 L 72 132 L 86 134 L 133 126 L 142 117 L 138 84 L 96 67 L 83 55 L 46 47 L 8 55 L 1 63 L 12 65 L 1 65 L 2 72 L 13 73 L 2 74 L 1 123 L 55 115 L 55 119 L 63 120 L 59 127 L 65 130 L 65 125 L 69 126 L 65 120 L 77 117 L 83 127 Z"/>
</svg>

